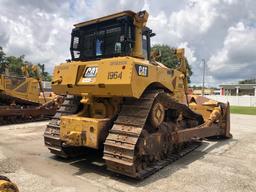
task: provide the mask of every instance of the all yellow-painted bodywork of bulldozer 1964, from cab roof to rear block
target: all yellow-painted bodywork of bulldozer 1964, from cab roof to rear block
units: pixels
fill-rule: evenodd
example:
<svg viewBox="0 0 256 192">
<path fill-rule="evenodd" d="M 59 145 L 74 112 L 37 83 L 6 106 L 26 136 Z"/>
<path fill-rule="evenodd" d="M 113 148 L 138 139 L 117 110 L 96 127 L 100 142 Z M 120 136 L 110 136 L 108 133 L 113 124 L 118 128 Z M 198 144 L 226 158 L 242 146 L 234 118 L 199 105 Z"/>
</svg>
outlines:
<svg viewBox="0 0 256 192">
<path fill-rule="evenodd" d="M 135 43 L 130 56 L 94 61 L 72 61 L 56 66 L 52 89 L 60 95 L 80 96 L 83 109 L 75 115 L 62 116 L 60 137 L 66 145 L 99 148 L 108 134 L 108 123 L 120 111 L 122 100 L 140 98 L 147 88 L 164 89 L 179 103 L 187 103 L 188 68 L 184 49 L 175 53 L 180 66 L 170 69 L 156 61 L 145 60 L 142 52 L 142 29 L 148 13 L 121 12 L 75 25 L 88 26 L 116 17 L 129 15 L 134 19 Z M 89 75 L 88 75 L 89 74 Z M 189 105 L 205 120 L 215 118 L 216 105 Z M 215 111 L 214 111 L 215 110 Z M 211 116 L 212 112 L 214 114 Z"/>
</svg>

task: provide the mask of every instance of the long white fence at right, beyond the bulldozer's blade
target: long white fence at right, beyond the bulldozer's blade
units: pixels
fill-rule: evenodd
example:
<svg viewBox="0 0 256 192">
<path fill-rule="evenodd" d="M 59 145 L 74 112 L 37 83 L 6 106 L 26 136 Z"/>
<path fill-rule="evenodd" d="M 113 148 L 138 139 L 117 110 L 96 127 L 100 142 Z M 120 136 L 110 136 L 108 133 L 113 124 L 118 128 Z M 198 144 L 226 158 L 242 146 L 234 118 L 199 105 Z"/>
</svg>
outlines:
<svg viewBox="0 0 256 192">
<path fill-rule="evenodd" d="M 222 95 L 206 95 L 209 99 L 224 102 L 227 101 L 233 106 L 249 106 L 256 107 L 256 96 L 222 96 Z"/>
</svg>

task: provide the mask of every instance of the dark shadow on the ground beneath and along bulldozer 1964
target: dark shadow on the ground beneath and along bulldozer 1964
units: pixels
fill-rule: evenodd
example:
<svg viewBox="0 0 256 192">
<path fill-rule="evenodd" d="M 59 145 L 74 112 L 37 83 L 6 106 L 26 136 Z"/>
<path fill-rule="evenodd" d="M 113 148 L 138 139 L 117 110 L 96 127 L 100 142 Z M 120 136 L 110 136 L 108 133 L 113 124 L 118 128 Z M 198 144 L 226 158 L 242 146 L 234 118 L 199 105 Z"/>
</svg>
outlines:
<svg viewBox="0 0 256 192">
<path fill-rule="evenodd" d="M 187 154 L 183 158 L 175 161 L 174 163 L 168 165 L 167 167 L 161 169 L 157 173 L 145 178 L 144 180 L 136 180 L 123 175 L 119 175 L 108 171 L 106 165 L 104 164 L 104 160 L 102 159 L 102 152 L 98 152 L 91 149 L 86 149 L 84 151 L 84 155 L 78 158 L 72 159 L 63 159 L 56 156 L 52 156 L 57 161 L 70 164 L 71 166 L 75 166 L 79 169 L 74 175 L 82 176 L 87 173 L 94 173 L 99 175 L 99 177 L 108 177 L 110 179 L 114 179 L 117 182 L 121 182 L 124 184 L 132 185 L 133 187 L 142 187 L 148 184 L 154 183 L 157 180 L 164 179 L 174 174 L 176 171 L 180 169 L 186 169 L 189 164 L 192 162 L 204 158 L 204 155 L 211 152 L 214 149 L 222 147 L 224 145 L 228 145 L 232 142 L 236 142 L 235 139 L 209 139 L 209 141 L 217 141 L 211 146 L 209 142 L 203 141 L 202 145 L 195 151 Z M 170 168 L 171 167 L 171 168 Z"/>
</svg>

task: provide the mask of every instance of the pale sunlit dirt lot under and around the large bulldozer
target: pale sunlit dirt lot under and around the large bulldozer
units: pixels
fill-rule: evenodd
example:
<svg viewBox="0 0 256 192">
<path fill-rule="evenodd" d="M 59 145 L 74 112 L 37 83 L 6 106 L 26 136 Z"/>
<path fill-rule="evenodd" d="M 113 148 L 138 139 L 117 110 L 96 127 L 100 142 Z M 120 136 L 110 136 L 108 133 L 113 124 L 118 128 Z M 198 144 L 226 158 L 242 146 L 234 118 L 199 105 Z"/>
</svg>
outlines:
<svg viewBox="0 0 256 192">
<path fill-rule="evenodd" d="M 63 160 L 43 144 L 47 122 L 0 127 L 0 174 L 21 192 L 256 191 L 256 116 L 232 115 L 233 138 L 204 141 L 196 151 L 144 181 L 106 170 L 94 152 Z"/>
</svg>

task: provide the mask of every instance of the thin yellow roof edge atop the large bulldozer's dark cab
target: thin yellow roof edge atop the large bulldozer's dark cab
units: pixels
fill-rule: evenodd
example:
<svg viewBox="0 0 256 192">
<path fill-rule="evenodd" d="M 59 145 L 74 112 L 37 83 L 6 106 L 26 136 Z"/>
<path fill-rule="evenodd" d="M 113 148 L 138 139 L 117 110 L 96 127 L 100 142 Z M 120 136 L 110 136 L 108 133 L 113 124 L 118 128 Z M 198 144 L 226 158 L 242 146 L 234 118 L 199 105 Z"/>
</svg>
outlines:
<svg viewBox="0 0 256 192">
<path fill-rule="evenodd" d="M 136 15 L 135 12 L 127 10 L 127 11 L 122 11 L 122 12 L 119 12 L 119 13 L 107 15 L 107 16 L 104 16 L 104 17 L 99 17 L 97 19 L 92 19 L 92 20 L 89 20 L 89 21 L 77 23 L 74 26 L 75 27 L 84 27 L 84 26 L 87 26 L 87 25 L 99 23 L 99 22 L 102 22 L 102 21 L 107 21 L 107 20 L 110 20 L 110 19 L 115 19 L 115 18 L 119 18 L 119 17 L 123 17 L 123 16 L 134 17 L 135 15 Z"/>
</svg>

